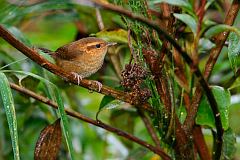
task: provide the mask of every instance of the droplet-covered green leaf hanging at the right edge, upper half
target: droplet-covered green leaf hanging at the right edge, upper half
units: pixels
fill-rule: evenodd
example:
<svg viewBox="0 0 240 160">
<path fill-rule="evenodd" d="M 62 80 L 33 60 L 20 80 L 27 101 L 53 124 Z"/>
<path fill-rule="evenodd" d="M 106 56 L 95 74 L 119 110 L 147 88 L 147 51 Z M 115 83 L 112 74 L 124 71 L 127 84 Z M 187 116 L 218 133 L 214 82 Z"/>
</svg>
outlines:
<svg viewBox="0 0 240 160">
<path fill-rule="evenodd" d="M 239 59 L 239 54 L 240 37 L 236 33 L 231 32 L 229 35 L 228 58 L 234 72 L 236 72 L 238 68 L 237 60 Z"/>
</svg>

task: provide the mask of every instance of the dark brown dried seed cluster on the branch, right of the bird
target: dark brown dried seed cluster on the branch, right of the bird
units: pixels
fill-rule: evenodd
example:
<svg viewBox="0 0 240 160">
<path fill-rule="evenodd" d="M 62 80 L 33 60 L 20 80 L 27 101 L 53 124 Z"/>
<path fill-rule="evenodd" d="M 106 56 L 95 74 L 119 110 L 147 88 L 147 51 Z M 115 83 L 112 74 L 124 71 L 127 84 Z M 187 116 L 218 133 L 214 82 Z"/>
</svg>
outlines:
<svg viewBox="0 0 240 160">
<path fill-rule="evenodd" d="M 143 87 L 147 77 L 147 71 L 140 65 L 127 64 L 122 71 L 123 80 L 121 85 L 129 92 L 133 103 L 142 104 L 151 96 L 151 91 Z"/>
</svg>

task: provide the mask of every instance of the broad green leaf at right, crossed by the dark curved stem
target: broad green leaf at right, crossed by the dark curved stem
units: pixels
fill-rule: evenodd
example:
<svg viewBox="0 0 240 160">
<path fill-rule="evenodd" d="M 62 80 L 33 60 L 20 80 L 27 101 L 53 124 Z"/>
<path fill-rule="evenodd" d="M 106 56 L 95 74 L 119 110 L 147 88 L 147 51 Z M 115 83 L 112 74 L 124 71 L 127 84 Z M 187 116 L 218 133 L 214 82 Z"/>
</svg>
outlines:
<svg viewBox="0 0 240 160">
<path fill-rule="evenodd" d="M 228 114 L 231 104 L 230 92 L 219 86 L 213 86 L 211 89 L 218 104 L 223 129 L 227 130 L 229 128 Z M 214 115 L 205 95 L 198 108 L 196 123 L 199 125 L 207 125 L 211 128 L 215 127 Z"/>
</svg>

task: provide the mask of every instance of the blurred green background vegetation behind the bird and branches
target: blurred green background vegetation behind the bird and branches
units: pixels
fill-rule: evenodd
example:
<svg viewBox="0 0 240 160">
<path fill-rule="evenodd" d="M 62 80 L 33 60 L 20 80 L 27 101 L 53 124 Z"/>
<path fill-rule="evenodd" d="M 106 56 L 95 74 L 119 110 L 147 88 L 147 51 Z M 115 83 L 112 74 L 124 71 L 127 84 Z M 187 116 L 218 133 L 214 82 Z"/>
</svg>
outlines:
<svg viewBox="0 0 240 160">
<path fill-rule="evenodd" d="M 190 1 L 191 2 L 191 1 Z M 59 46 L 75 41 L 77 39 L 95 35 L 107 37 L 106 33 L 99 33 L 96 20 L 95 8 L 86 1 L 80 0 L 80 5 L 70 1 L 41 1 L 41 0 L 0 0 L 0 23 L 4 24 L 16 37 L 31 47 L 45 47 L 56 50 Z M 149 1 L 153 4 L 154 1 Z M 213 2 L 208 17 L 213 17 L 220 22 L 229 7 L 231 1 L 222 1 L 220 6 Z M 154 5 L 152 9 L 158 10 Z M 101 10 L 103 23 L 106 29 L 113 30 L 107 32 L 110 40 L 116 40 L 121 49 L 118 55 L 121 67 L 129 62 L 130 51 L 126 44 L 126 25 L 121 20 L 121 16 L 108 11 Z M 240 17 L 238 16 L 235 25 L 239 27 Z M 118 32 L 117 29 L 124 32 Z M 207 44 L 205 47 L 209 47 Z M 120 48 L 121 47 L 121 48 Z M 203 46 L 204 49 L 204 46 Z M 53 61 L 48 55 L 44 57 Z M 202 56 L 200 68 L 204 67 L 207 57 Z M 222 84 L 233 75 L 231 65 L 228 60 L 228 50 L 224 48 L 214 68 L 210 82 L 214 85 Z M 15 62 L 11 64 L 12 62 Z M 1 68 L 11 64 L 5 68 Z M 71 106 L 89 117 L 95 118 L 104 95 L 91 92 L 79 86 L 65 83 L 62 79 L 54 76 L 50 72 L 42 69 L 12 46 L 0 39 L 0 68 L 8 70 L 20 70 L 40 75 L 56 84 L 61 90 L 61 94 L 66 106 Z M 18 73 L 6 73 L 8 78 L 21 86 L 29 88 L 39 94 L 48 95 L 46 84 L 41 80 Z M 105 58 L 103 68 L 89 79 L 95 79 L 104 85 L 113 88 L 120 87 L 120 79 L 111 63 L 110 56 Z M 32 98 L 12 90 L 14 104 L 17 115 L 19 147 L 21 159 L 33 159 L 35 143 L 41 130 L 56 120 L 56 113 Z M 111 103 L 107 109 L 101 111 L 99 119 L 119 127 L 124 131 L 133 133 L 137 137 L 152 142 L 142 120 L 137 116 L 135 109 L 129 104 L 115 102 Z M 1 100 L 0 100 L 1 104 Z M 1 105 L 2 106 L 2 105 Z M 237 137 L 237 152 L 234 159 L 240 159 L 240 95 L 239 88 L 234 88 L 231 96 L 231 106 L 229 108 L 229 123 Z M 101 128 L 89 125 L 88 123 L 69 117 L 69 127 L 72 135 L 74 156 L 76 159 L 159 159 L 158 156 L 149 150 Z M 13 159 L 11 138 L 7 125 L 7 120 L 3 107 L 0 109 L 0 159 Z M 206 127 L 203 130 L 209 148 L 212 146 L 211 131 Z M 69 159 L 66 144 L 61 146 L 59 159 Z"/>
</svg>

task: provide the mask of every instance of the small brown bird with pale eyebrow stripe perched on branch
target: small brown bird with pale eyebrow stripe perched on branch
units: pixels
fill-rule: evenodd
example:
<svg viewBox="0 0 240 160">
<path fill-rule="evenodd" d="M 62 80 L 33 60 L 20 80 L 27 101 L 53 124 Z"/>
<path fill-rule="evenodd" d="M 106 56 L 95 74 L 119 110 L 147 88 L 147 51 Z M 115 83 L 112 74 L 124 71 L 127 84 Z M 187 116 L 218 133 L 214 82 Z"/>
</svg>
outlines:
<svg viewBox="0 0 240 160">
<path fill-rule="evenodd" d="M 73 73 L 79 84 L 82 78 L 89 77 L 102 67 L 108 47 L 115 44 L 87 37 L 58 48 L 51 56 L 59 67 Z M 102 84 L 96 83 L 100 91 Z"/>
</svg>

